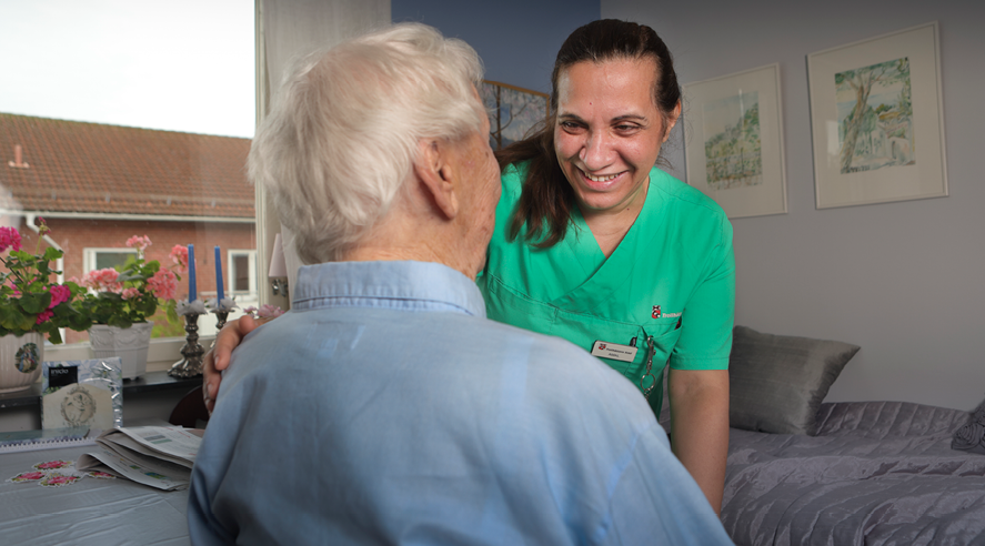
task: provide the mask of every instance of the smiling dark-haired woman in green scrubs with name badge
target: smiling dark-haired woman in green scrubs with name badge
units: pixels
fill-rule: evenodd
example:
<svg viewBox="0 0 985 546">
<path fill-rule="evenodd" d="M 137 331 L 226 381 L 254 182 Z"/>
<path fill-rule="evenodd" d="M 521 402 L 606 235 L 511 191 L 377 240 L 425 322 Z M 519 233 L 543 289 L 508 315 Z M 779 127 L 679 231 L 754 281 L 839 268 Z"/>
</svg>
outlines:
<svg viewBox="0 0 985 546">
<path fill-rule="evenodd" d="M 655 168 L 680 113 L 670 52 L 651 28 L 600 20 L 575 30 L 554 64 L 547 123 L 497 153 L 503 191 L 478 282 L 490 318 L 591 351 L 657 414 L 663 393 L 653 387 L 669 362 L 673 449 L 718 512 L 732 226 L 712 200 Z M 214 367 L 207 357 L 209 398 L 214 368 L 251 326 L 223 331 Z"/>
</svg>

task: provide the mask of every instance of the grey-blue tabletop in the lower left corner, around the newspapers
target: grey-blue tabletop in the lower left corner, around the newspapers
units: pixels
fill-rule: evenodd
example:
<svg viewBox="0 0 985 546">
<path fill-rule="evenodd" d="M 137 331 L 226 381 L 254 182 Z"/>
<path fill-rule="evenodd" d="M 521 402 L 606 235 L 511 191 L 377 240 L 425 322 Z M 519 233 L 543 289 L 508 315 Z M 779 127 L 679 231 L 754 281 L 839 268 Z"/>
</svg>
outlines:
<svg viewBox="0 0 985 546">
<path fill-rule="evenodd" d="M 77 461 L 94 446 L 0 454 L 0 544 L 187 545 L 188 489 L 84 477 L 61 487 L 8 479 L 38 463 Z"/>
</svg>

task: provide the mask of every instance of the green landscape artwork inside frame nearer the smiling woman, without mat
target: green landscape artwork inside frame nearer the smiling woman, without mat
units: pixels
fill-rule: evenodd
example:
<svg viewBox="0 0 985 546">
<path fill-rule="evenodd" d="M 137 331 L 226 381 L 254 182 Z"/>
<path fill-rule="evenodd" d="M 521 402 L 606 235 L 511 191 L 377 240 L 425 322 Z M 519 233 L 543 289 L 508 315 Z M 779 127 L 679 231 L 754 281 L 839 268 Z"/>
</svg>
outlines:
<svg viewBox="0 0 985 546">
<path fill-rule="evenodd" d="M 711 190 L 763 183 L 760 99 L 755 91 L 708 102 L 702 109 L 705 172 Z"/>
</svg>

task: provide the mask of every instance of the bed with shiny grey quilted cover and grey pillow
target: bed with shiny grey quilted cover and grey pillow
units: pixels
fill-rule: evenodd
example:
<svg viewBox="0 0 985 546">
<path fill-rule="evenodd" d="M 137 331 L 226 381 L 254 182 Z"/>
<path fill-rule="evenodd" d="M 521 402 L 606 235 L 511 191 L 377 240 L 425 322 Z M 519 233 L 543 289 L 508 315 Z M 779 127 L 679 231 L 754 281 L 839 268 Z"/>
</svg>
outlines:
<svg viewBox="0 0 985 546">
<path fill-rule="evenodd" d="M 985 402 L 822 403 L 856 351 L 736 327 L 726 532 L 741 546 L 985 545 Z"/>
</svg>

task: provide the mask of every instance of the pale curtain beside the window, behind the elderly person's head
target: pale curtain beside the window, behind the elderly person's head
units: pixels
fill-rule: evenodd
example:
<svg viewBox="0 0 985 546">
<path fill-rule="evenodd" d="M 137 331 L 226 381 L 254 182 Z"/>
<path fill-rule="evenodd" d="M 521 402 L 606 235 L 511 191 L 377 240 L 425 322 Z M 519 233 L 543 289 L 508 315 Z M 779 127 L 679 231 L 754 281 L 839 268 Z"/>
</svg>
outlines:
<svg viewBox="0 0 985 546">
<path fill-rule="evenodd" d="M 270 100 L 291 61 L 312 50 L 330 47 L 365 30 L 390 23 L 390 0 L 257 0 L 258 20 L 258 120 L 265 115 Z M 264 280 L 261 303 L 288 309 L 290 302 L 273 296 L 267 272 L 278 232 L 288 264 L 288 285 L 293 290 L 301 262 L 294 250 L 293 235 L 274 218 L 262 189 L 257 196 L 257 244 L 263 256 Z M 264 301 L 265 296 L 265 301 Z"/>
</svg>

